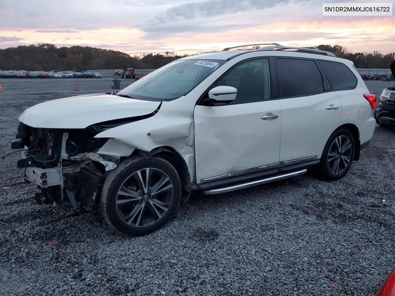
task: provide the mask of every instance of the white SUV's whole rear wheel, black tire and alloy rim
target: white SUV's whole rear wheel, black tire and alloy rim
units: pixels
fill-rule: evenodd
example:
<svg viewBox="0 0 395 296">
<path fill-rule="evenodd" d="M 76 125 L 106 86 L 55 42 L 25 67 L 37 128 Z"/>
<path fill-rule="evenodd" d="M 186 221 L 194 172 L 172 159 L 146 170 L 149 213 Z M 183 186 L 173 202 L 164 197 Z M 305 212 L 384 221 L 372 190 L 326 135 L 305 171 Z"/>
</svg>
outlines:
<svg viewBox="0 0 395 296">
<path fill-rule="evenodd" d="M 347 148 L 339 153 L 336 141 L 340 139 L 340 147 Z M 351 147 L 345 145 L 350 141 Z M 355 154 L 355 139 L 348 129 L 340 128 L 332 133 L 325 144 L 319 164 L 320 176 L 324 180 L 335 181 L 344 177 L 352 165 Z M 348 163 L 347 163 L 348 161 Z M 338 163 L 338 165 L 337 165 Z M 336 169 L 337 165 L 337 169 Z"/>
</svg>

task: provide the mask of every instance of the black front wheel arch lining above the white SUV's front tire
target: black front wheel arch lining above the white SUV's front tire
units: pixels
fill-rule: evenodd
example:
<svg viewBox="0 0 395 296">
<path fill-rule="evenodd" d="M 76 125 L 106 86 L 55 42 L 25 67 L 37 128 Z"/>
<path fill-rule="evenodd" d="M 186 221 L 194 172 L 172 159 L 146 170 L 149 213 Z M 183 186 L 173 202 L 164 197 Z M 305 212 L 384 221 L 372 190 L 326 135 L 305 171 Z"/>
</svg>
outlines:
<svg viewBox="0 0 395 296">
<path fill-rule="evenodd" d="M 188 165 L 186 164 L 184 158 L 172 147 L 162 146 L 152 149 L 149 152 L 143 150 L 135 150 L 131 156 L 142 155 L 145 158 L 150 158 L 152 156 L 161 157 L 167 160 L 173 167 L 177 170 L 177 173 L 181 179 L 181 200 L 183 202 L 188 201 L 191 193 L 191 178 L 188 170 Z"/>
</svg>

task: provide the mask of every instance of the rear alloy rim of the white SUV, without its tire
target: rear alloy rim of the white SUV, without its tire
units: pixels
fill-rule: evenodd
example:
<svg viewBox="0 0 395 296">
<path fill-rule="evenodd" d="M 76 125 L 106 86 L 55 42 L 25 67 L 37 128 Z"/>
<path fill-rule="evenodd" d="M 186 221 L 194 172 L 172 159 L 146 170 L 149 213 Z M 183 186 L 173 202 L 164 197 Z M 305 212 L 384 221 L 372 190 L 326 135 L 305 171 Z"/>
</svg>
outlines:
<svg viewBox="0 0 395 296">
<path fill-rule="evenodd" d="M 328 166 L 332 174 L 339 175 L 347 169 L 352 156 L 352 143 L 348 137 L 337 137 L 328 153 Z"/>
</svg>

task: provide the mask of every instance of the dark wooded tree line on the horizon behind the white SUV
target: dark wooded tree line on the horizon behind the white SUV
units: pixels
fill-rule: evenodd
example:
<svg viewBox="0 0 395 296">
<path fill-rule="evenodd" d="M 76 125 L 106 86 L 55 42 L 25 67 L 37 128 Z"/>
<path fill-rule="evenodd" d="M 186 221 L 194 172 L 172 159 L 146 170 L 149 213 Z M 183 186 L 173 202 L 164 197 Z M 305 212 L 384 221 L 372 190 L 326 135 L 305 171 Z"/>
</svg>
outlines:
<svg viewBox="0 0 395 296">
<path fill-rule="evenodd" d="M 389 68 L 389 64 L 395 60 L 395 52 L 389 54 L 381 54 L 378 51 L 352 53 L 340 45 L 318 45 L 317 47 L 351 60 L 357 68 Z M 254 47 L 254 49 L 258 48 Z M 130 64 L 134 69 L 158 69 L 183 56 L 188 56 L 188 54 L 181 56 L 167 51 L 164 54 L 130 56 L 124 52 L 96 47 L 56 47 L 54 44 L 39 43 L 0 49 L 0 69 L 86 71 L 87 69 L 121 69 L 124 64 Z"/>
</svg>

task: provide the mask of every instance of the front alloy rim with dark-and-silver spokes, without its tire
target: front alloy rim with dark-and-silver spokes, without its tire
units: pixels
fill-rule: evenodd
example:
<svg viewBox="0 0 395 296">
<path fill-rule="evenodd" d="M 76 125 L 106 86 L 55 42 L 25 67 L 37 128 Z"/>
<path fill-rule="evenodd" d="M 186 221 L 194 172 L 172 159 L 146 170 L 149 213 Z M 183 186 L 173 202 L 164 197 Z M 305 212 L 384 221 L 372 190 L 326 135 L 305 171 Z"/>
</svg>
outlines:
<svg viewBox="0 0 395 296">
<path fill-rule="evenodd" d="M 160 220 L 173 200 L 173 184 L 162 170 L 146 168 L 130 175 L 117 193 L 119 217 L 126 224 L 145 227 Z"/>
</svg>

